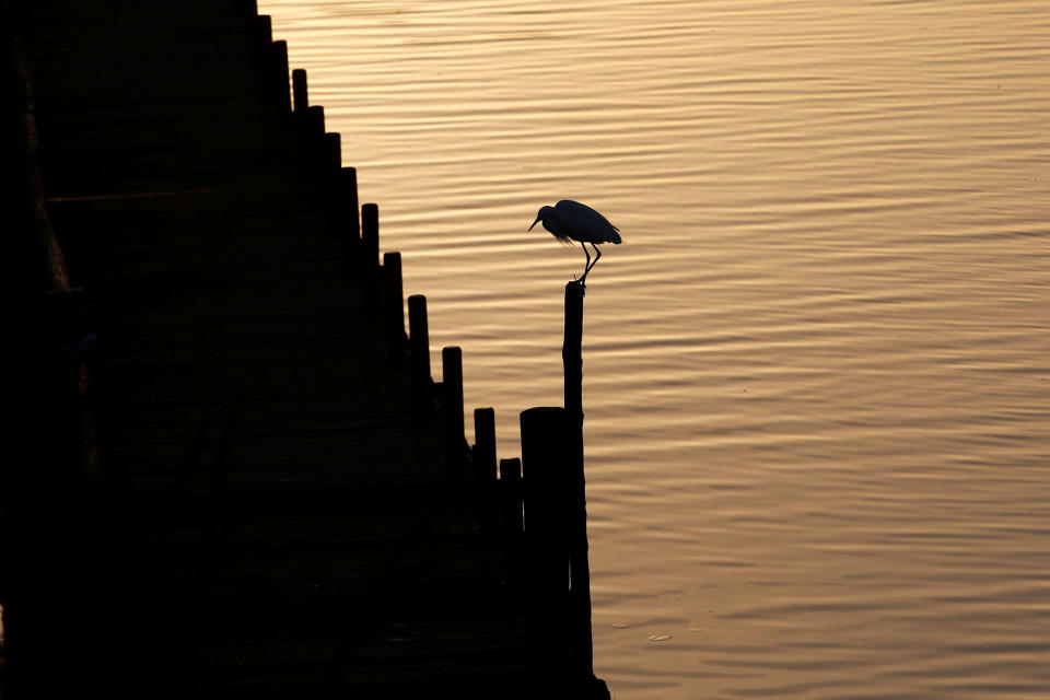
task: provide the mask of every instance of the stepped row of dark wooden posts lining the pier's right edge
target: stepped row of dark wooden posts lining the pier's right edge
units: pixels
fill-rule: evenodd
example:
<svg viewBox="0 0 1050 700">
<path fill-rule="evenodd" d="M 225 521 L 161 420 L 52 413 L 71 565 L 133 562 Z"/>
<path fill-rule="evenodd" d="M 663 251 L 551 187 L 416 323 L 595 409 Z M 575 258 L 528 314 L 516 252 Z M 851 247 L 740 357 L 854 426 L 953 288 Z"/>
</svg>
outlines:
<svg viewBox="0 0 1050 700">
<path fill-rule="evenodd" d="M 382 310 L 389 362 L 394 366 L 408 362 L 418 415 L 434 409 L 436 395 L 443 409 L 444 456 L 451 475 L 480 487 L 478 493 L 489 501 L 481 504 L 482 511 L 494 516 L 510 549 L 524 550 L 517 565 L 524 569 L 528 646 L 537 668 L 569 681 L 579 697 L 608 697 L 605 684 L 594 677 L 591 635 L 583 471 L 584 287 L 576 282 L 565 285 L 564 407 L 530 408 L 521 413 L 521 459 L 497 458 L 495 413 L 492 408 L 475 409 L 475 444 L 468 447 L 460 349 L 442 349 L 442 380 L 436 386 L 430 365 L 427 298 L 408 298 L 406 335 L 401 255 L 385 253 L 380 265 L 378 207 L 361 205 L 359 223 L 357 171 L 342 165 L 339 133 L 326 131 L 324 108 L 310 105 L 306 71 L 289 72 L 288 46 L 271 40 L 269 18 L 257 15 L 254 22 L 254 52 L 264 95 L 279 115 L 289 118 L 296 153 L 311 172 L 330 229 L 343 241 L 348 266 L 361 279 L 365 305 Z M 518 546 L 522 539 L 524 547 Z M 564 630 L 565 643 L 552 638 L 558 629 Z"/>
</svg>

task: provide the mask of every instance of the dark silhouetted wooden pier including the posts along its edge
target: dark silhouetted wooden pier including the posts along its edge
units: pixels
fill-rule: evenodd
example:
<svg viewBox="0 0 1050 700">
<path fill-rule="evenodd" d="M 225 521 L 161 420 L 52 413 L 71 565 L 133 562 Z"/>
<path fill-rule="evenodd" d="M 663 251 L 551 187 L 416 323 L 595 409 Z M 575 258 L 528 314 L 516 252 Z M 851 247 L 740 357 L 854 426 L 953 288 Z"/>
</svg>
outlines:
<svg viewBox="0 0 1050 700">
<path fill-rule="evenodd" d="M 522 413 L 522 459 L 490 408 L 468 445 L 460 350 L 435 381 L 254 1 L 0 8 L 3 697 L 607 697 L 583 288 L 565 406 Z"/>
</svg>

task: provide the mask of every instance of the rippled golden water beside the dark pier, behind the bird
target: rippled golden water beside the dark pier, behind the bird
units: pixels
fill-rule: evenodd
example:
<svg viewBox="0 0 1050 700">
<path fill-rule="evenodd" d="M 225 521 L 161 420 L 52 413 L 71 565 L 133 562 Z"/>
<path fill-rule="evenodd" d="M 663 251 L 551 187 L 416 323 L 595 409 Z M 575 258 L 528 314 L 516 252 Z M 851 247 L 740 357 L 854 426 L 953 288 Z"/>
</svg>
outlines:
<svg viewBox="0 0 1050 700">
<path fill-rule="evenodd" d="M 587 202 L 616 698 L 1050 697 L 1046 0 L 266 0 L 468 411 L 561 402 Z M 469 424 L 469 419 L 468 419 Z"/>
</svg>

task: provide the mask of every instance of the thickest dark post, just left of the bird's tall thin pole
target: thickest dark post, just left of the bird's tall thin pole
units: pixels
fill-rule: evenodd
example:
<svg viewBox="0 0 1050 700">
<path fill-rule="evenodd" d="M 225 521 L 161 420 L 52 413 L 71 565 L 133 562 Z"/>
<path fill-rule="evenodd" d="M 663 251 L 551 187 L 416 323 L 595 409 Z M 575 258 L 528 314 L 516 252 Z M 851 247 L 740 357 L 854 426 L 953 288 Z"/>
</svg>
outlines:
<svg viewBox="0 0 1050 700">
<path fill-rule="evenodd" d="M 564 687 L 569 663 L 564 482 L 571 441 L 563 408 L 530 408 L 521 423 L 528 655 L 532 674 L 545 676 L 549 692 Z"/>
</svg>

